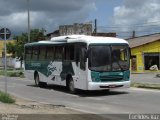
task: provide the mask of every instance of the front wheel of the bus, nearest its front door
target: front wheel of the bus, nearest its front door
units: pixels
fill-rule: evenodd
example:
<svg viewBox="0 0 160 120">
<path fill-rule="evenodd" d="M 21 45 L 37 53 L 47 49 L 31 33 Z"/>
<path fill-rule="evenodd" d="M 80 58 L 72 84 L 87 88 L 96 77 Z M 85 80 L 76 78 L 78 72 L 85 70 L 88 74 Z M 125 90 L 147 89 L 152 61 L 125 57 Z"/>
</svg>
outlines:
<svg viewBox="0 0 160 120">
<path fill-rule="evenodd" d="M 68 90 L 71 94 L 76 93 L 76 89 L 75 89 L 74 81 L 73 81 L 72 77 L 69 77 L 69 79 L 68 79 Z"/>
</svg>

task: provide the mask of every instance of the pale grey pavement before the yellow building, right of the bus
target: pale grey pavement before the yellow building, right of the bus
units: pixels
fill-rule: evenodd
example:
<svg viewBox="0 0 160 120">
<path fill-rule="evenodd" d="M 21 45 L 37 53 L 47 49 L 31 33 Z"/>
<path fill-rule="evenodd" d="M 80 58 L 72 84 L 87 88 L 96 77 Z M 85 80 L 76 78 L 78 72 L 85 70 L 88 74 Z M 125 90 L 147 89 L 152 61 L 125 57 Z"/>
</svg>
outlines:
<svg viewBox="0 0 160 120">
<path fill-rule="evenodd" d="M 156 76 L 157 74 L 158 73 L 140 73 L 140 74 L 132 73 L 131 82 L 160 84 L 160 77 L 157 77 Z"/>
</svg>

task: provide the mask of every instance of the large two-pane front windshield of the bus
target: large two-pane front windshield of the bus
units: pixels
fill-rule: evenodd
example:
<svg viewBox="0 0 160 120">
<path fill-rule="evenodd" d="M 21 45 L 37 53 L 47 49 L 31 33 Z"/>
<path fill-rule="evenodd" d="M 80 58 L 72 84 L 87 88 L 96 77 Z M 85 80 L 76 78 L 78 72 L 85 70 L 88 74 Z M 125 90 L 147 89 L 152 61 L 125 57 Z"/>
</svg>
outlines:
<svg viewBox="0 0 160 120">
<path fill-rule="evenodd" d="M 129 70 L 128 45 L 90 45 L 89 69 L 93 71 Z"/>
</svg>

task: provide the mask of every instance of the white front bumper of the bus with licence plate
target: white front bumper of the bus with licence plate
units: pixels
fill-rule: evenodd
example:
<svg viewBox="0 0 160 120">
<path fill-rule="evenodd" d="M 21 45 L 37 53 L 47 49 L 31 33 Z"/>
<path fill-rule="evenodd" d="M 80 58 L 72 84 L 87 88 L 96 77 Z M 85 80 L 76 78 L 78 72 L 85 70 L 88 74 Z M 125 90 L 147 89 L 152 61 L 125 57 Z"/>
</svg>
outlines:
<svg viewBox="0 0 160 120">
<path fill-rule="evenodd" d="M 88 90 L 105 90 L 105 89 L 116 89 L 116 88 L 129 88 L 130 81 L 125 82 L 89 82 Z"/>
</svg>

